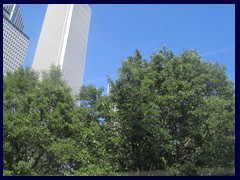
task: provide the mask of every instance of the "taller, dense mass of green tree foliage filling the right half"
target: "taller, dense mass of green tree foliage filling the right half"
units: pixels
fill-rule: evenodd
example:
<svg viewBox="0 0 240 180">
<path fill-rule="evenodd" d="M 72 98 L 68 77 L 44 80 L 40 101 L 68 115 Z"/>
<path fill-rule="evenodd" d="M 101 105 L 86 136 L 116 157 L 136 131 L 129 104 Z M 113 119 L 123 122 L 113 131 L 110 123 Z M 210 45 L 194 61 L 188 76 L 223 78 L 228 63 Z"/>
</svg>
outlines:
<svg viewBox="0 0 240 180">
<path fill-rule="evenodd" d="M 110 83 L 128 155 L 122 167 L 196 175 L 234 164 L 235 97 L 224 66 L 163 47 L 150 62 L 136 50 L 118 74 Z"/>
</svg>

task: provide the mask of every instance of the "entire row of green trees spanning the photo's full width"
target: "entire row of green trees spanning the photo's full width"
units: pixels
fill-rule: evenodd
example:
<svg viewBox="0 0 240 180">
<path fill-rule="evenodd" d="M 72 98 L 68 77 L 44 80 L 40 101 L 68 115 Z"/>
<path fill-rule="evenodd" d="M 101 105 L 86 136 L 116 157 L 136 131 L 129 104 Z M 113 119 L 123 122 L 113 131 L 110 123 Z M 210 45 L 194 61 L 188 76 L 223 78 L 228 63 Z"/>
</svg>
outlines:
<svg viewBox="0 0 240 180">
<path fill-rule="evenodd" d="M 4 77 L 4 175 L 118 175 L 235 164 L 235 90 L 226 67 L 165 46 L 122 62 L 110 94 L 74 97 L 58 67 Z"/>
</svg>

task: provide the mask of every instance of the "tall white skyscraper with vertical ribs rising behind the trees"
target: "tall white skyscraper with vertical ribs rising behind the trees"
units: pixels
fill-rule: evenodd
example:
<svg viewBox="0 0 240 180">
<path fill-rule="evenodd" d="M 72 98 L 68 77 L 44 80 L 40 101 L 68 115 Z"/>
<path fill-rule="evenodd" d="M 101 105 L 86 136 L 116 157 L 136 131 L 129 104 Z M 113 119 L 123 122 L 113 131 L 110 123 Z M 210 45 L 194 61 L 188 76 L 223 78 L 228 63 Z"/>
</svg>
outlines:
<svg viewBox="0 0 240 180">
<path fill-rule="evenodd" d="M 32 65 L 38 72 L 59 66 L 73 94 L 83 82 L 90 16 L 85 4 L 49 4 Z"/>
</svg>

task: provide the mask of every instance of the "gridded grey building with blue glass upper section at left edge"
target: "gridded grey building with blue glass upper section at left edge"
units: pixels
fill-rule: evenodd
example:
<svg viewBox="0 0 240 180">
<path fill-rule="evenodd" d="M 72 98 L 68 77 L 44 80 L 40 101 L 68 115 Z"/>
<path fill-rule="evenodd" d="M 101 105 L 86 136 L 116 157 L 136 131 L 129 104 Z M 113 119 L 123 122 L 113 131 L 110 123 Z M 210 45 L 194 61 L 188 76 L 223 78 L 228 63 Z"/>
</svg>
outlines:
<svg viewBox="0 0 240 180">
<path fill-rule="evenodd" d="M 23 65 L 29 45 L 23 29 L 19 4 L 3 4 L 3 75 Z"/>
</svg>

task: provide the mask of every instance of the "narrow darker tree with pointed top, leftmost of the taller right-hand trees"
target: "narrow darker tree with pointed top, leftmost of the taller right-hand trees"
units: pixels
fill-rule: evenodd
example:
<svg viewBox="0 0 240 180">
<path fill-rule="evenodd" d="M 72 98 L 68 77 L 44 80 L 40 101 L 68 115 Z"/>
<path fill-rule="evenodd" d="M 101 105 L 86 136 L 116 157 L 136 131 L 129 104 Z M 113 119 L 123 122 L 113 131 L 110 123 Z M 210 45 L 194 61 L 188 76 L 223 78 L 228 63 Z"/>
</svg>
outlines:
<svg viewBox="0 0 240 180">
<path fill-rule="evenodd" d="M 135 56 L 123 62 L 119 79 L 111 83 L 111 98 L 116 103 L 127 155 L 122 166 L 130 170 L 163 168 L 164 157 L 172 148 L 169 132 L 159 119 L 159 107 L 152 96 L 154 82 L 149 76 L 152 76 L 149 63 L 136 50 Z"/>
</svg>

